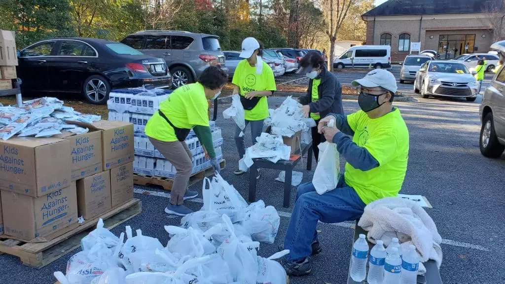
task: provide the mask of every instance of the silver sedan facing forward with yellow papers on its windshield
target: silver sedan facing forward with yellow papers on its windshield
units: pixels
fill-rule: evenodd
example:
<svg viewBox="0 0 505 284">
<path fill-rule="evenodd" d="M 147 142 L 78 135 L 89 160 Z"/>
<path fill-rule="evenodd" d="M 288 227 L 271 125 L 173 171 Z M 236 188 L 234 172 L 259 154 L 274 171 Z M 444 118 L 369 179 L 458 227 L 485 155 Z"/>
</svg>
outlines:
<svg viewBox="0 0 505 284">
<path fill-rule="evenodd" d="M 454 61 L 427 61 L 416 74 L 414 92 L 421 92 L 421 97 L 430 96 L 466 98 L 473 102 L 477 98 L 477 80 L 468 68 Z"/>
</svg>

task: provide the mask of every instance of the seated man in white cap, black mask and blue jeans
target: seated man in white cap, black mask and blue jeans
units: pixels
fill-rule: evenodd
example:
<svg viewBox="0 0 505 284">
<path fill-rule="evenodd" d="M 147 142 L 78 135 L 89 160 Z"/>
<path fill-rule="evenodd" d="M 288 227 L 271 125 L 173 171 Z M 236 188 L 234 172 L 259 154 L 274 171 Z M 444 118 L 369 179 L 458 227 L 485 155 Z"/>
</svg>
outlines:
<svg viewBox="0 0 505 284">
<path fill-rule="evenodd" d="M 291 275 L 309 274 L 309 256 L 322 251 L 317 239 L 318 221 L 356 220 L 367 204 L 397 196 L 405 178 L 409 131 L 400 111 L 392 107 L 396 79 L 390 72 L 376 69 L 352 85 L 360 87 L 361 110 L 347 116 L 329 114 L 318 125 L 319 132 L 335 143 L 345 158 L 344 174 L 335 190 L 323 195 L 316 192 L 312 182 L 298 186 L 284 240 L 284 248 L 290 252 L 282 261 Z M 337 127 L 327 126 L 331 119 Z"/>
</svg>

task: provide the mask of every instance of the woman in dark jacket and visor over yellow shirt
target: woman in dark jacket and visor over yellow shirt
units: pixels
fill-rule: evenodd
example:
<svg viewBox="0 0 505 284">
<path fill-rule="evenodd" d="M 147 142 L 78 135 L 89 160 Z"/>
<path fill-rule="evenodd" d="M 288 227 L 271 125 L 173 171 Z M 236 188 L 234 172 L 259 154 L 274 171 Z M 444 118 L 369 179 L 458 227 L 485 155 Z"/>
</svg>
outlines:
<svg viewBox="0 0 505 284">
<path fill-rule="evenodd" d="M 342 88 L 337 76 L 326 69 L 324 59 L 317 52 L 309 52 L 300 60 L 300 69 L 297 74 L 305 74 L 310 78 L 307 97 L 300 98 L 302 114 L 311 117 L 318 125 L 319 120 L 329 113 L 343 115 Z M 317 126 L 312 127 L 312 149 L 316 161 L 319 160 L 317 147 L 324 136 L 319 134 Z"/>
</svg>

